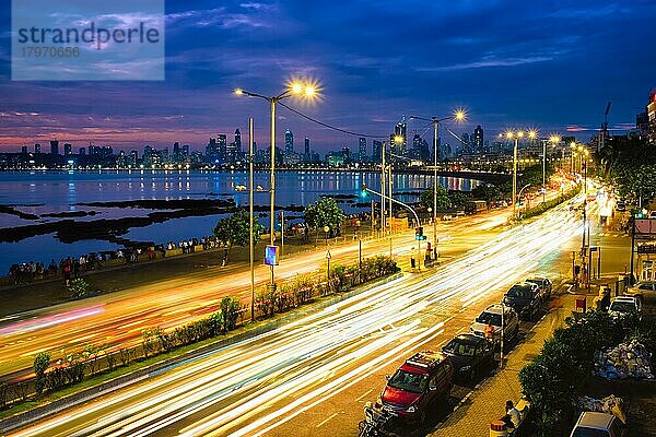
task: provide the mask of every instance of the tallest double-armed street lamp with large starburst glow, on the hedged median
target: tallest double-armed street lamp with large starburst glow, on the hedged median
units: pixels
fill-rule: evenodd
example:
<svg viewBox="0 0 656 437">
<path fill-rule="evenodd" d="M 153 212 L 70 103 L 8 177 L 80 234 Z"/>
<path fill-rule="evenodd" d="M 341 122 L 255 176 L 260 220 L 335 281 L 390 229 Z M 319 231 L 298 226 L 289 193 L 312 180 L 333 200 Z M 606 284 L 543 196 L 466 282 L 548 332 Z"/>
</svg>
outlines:
<svg viewBox="0 0 656 437">
<path fill-rule="evenodd" d="M 251 93 L 242 88 L 235 90 L 236 95 L 246 95 L 249 97 L 259 97 L 269 102 L 271 107 L 271 181 L 270 181 L 270 193 L 271 193 L 271 212 L 270 212 L 270 246 L 276 243 L 276 104 L 282 99 L 292 96 L 303 96 L 307 99 L 314 99 L 317 96 L 317 86 L 311 82 L 300 83 L 291 82 L 288 84 L 288 88 L 281 94 L 274 97 L 267 97 L 262 94 Z M 273 276 L 273 263 L 271 263 L 271 288 L 276 288 L 276 282 Z"/>
</svg>

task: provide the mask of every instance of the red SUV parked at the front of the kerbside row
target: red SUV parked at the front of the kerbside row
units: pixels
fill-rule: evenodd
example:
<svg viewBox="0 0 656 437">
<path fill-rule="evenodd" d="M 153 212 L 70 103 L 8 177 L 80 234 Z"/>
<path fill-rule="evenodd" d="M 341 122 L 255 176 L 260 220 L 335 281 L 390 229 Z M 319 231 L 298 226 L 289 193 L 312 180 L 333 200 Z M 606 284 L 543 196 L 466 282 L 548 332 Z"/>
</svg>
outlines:
<svg viewBox="0 0 656 437">
<path fill-rule="evenodd" d="M 444 401 L 454 385 L 454 366 L 440 352 L 418 352 L 387 379 L 380 409 L 409 423 L 423 424 L 426 412 Z"/>
</svg>

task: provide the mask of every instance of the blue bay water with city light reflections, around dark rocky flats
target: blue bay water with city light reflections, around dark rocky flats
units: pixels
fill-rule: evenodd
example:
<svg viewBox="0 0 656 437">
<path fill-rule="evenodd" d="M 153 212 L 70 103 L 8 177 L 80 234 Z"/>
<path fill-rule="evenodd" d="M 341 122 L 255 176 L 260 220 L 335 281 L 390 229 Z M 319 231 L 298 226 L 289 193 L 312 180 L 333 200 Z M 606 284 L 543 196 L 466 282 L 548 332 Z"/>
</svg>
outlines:
<svg viewBox="0 0 656 437">
<path fill-rule="evenodd" d="M 269 173 L 256 172 L 255 185 L 269 189 Z M 440 177 L 442 186 L 449 190 L 469 191 L 480 182 L 477 180 Z M 380 175 L 370 172 L 279 172 L 276 175 L 277 205 L 307 205 L 320 194 L 360 193 L 363 184 L 378 190 Z M 45 214 L 67 211 L 96 211 L 95 216 L 75 220 L 116 218 L 143 216 L 149 211 L 138 209 L 106 209 L 83 206 L 77 203 L 127 201 L 127 200 L 172 200 L 172 199 L 220 199 L 234 197 L 239 205 L 248 202 L 248 192 L 236 192 L 236 186 L 248 185 L 246 172 L 191 172 L 191 170 L 133 170 L 133 172 L 30 172 L 0 173 L 0 204 L 16 205 L 16 209 L 31 214 Z M 420 191 L 433 185 L 432 175 L 395 174 L 394 192 L 406 201 L 414 201 L 415 196 L 403 196 L 403 191 Z M 354 201 L 358 201 L 356 199 Z M 269 204 L 269 193 L 255 194 L 257 204 Z M 349 212 L 355 211 L 354 203 L 340 203 Z M 295 214 L 298 215 L 298 214 Z M 211 233 L 218 216 L 177 218 L 131 229 L 126 237 L 134 240 L 178 240 L 185 237 Z M 56 221 L 61 218 L 46 218 Z M 266 221 L 267 218 L 261 218 Z M 0 227 L 34 224 L 16 216 L 0 214 Z M 39 256 L 31 256 L 38 247 Z M 63 245 L 54 235 L 38 236 L 20 243 L 0 244 L 0 274 L 12 262 L 31 259 L 49 261 L 62 255 L 81 253 L 91 250 L 107 250 L 114 245 L 107 241 L 80 241 Z"/>
</svg>

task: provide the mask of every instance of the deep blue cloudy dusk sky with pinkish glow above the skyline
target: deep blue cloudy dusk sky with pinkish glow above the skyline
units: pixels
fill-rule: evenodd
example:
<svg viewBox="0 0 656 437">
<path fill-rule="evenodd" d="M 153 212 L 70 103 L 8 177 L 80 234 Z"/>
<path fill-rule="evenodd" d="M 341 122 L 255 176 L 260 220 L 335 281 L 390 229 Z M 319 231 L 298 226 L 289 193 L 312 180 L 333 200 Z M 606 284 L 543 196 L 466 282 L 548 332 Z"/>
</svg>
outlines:
<svg viewBox="0 0 656 437">
<path fill-rule="evenodd" d="M 200 150 L 210 135 L 245 131 L 250 115 L 263 145 L 267 103 L 232 91 L 273 95 L 292 76 L 318 81 L 323 99 L 290 106 L 374 135 L 402 115 L 462 107 L 468 121 L 453 127 L 457 133 L 482 125 L 492 139 L 535 127 L 588 140 L 609 101 L 609 125 L 625 130 L 656 87 L 653 0 L 167 1 L 163 82 L 12 82 L 9 3 L 0 7 L 3 151 L 52 137 L 75 147 L 179 141 Z M 356 147 L 356 138 L 284 108 L 277 126 L 279 144 L 290 128 L 297 151 L 304 137 L 320 152 Z"/>
</svg>

